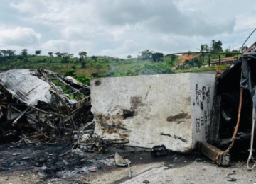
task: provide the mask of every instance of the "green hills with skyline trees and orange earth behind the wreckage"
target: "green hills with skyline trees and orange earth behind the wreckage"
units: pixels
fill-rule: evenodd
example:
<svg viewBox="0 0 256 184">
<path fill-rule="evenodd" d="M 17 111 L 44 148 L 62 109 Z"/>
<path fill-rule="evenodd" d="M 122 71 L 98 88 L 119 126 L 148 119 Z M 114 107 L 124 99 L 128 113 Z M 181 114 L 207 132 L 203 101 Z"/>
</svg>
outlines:
<svg viewBox="0 0 256 184">
<path fill-rule="evenodd" d="M 240 51 L 246 50 L 244 46 Z M 136 76 L 149 74 L 171 74 L 177 72 L 200 72 L 225 69 L 227 66 L 206 67 L 213 59 L 238 56 L 233 52 L 238 50 L 226 49 L 228 54 L 208 54 L 207 52 L 224 52 L 221 41 L 212 40 L 210 46 L 200 45 L 200 53 L 193 54 L 190 51 L 186 55 L 174 54 L 164 56 L 161 52 L 143 50 L 137 58 L 131 55 L 127 59 L 119 59 L 107 56 L 87 57 L 87 52 L 79 52 L 79 57 L 73 54 L 61 52 L 48 52 L 48 56 L 41 55 L 41 50 L 35 54 L 28 54 L 23 49 L 20 54 L 15 50 L 0 50 L 0 71 L 8 69 L 49 69 L 65 76 L 73 76 L 78 81 L 89 84 L 90 79 L 107 76 Z M 184 59 L 185 58 L 185 59 Z"/>
</svg>

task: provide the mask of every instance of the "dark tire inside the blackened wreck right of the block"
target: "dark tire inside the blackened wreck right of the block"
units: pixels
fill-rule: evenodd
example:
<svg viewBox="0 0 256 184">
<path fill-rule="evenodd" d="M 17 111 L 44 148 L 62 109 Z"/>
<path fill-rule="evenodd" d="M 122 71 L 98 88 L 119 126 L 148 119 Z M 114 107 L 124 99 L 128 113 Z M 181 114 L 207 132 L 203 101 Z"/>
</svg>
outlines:
<svg viewBox="0 0 256 184">
<path fill-rule="evenodd" d="M 223 93 L 221 96 L 220 125 L 223 134 L 233 134 L 238 120 L 239 98 L 239 93 Z"/>
</svg>

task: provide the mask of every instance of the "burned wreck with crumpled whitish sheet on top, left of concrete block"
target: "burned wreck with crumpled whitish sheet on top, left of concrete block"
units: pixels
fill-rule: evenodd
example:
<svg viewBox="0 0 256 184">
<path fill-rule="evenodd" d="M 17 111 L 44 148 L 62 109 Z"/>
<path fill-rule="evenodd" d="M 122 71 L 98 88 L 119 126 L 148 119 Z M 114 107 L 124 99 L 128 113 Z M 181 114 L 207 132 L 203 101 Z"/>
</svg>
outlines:
<svg viewBox="0 0 256 184">
<path fill-rule="evenodd" d="M 0 73 L 1 142 L 61 144 L 92 121 L 90 87 L 45 69 Z"/>
</svg>

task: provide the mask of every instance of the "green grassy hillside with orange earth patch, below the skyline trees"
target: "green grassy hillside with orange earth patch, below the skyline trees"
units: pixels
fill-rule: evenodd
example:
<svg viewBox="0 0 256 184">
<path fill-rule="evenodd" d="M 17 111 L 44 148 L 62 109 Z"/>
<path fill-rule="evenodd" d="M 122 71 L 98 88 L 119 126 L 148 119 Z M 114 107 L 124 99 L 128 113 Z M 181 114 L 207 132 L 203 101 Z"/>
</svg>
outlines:
<svg viewBox="0 0 256 184">
<path fill-rule="evenodd" d="M 63 60 L 62 57 L 28 55 L 21 57 L 0 57 L 0 71 L 9 69 L 49 69 L 59 74 L 74 76 L 75 79 L 89 84 L 90 79 L 108 76 L 137 76 L 149 74 L 171 74 L 179 72 L 215 71 L 217 68 L 225 69 L 227 66 L 215 66 L 199 69 L 176 69 L 187 59 L 196 56 L 184 54 L 179 57 L 164 57 L 161 62 L 152 59 L 119 59 L 114 57 L 99 56 L 97 59 L 77 57 Z"/>
</svg>

